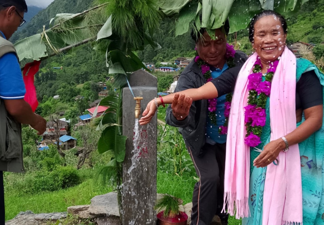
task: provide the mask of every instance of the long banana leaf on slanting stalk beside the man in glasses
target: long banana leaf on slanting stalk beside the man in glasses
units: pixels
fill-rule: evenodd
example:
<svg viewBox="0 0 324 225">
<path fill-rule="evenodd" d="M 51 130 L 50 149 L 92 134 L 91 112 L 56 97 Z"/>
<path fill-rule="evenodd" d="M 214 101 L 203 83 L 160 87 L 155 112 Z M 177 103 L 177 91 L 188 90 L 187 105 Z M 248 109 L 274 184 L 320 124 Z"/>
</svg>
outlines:
<svg viewBox="0 0 324 225">
<path fill-rule="evenodd" d="M 49 29 L 45 29 L 44 26 L 40 34 L 18 41 L 14 46 L 20 64 L 24 66 L 26 62 L 59 54 L 61 50 L 67 50 L 65 48 L 68 46 L 72 48 L 94 39 L 107 19 L 99 18 L 98 23 L 98 20 L 87 19 L 87 14 L 102 6 L 96 6 L 77 14 L 57 14 L 51 19 Z M 94 32 L 96 30 L 97 32 Z"/>
</svg>

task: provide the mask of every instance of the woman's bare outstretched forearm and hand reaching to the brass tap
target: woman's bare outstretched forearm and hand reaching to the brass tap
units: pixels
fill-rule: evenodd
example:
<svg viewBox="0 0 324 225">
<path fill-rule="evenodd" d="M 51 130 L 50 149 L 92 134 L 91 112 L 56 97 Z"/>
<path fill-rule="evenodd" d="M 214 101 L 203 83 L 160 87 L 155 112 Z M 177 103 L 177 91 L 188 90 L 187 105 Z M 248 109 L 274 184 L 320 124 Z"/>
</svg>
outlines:
<svg viewBox="0 0 324 225">
<path fill-rule="evenodd" d="M 192 101 L 216 98 L 218 96 L 218 92 L 215 85 L 212 82 L 207 82 L 199 88 L 191 88 L 177 93 L 173 93 L 171 95 L 163 96 L 163 103 L 171 104 L 174 97 L 178 99 L 179 96 L 183 96 L 183 104 L 186 106 L 188 105 L 187 107 L 190 107 Z M 156 103 L 158 106 L 162 105 L 161 99 L 157 98 Z M 145 125 L 151 121 L 157 109 L 156 103 L 153 99 L 147 104 L 146 109 L 142 114 L 143 117 L 139 120 L 141 125 Z"/>
</svg>

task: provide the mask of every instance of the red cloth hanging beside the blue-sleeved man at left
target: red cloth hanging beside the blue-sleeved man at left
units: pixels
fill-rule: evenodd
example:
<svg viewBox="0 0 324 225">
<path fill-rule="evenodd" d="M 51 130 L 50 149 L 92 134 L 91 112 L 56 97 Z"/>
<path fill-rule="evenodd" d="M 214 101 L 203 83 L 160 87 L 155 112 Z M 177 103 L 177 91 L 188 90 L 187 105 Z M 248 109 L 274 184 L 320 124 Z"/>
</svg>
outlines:
<svg viewBox="0 0 324 225">
<path fill-rule="evenodd" d="M 28 102 L 33 112 L 35 112 L 38 106 L 36 88 L 34 85 L 34 75 L 39 71 L 40 64 L 41 61 L 36 61 L 36 60 L 34 62 L 29 62 L 25 65 L 24 72 L 23 72 L 24 83 L 26 88 L 26 94 L 24 100 Z"/>
</svg>

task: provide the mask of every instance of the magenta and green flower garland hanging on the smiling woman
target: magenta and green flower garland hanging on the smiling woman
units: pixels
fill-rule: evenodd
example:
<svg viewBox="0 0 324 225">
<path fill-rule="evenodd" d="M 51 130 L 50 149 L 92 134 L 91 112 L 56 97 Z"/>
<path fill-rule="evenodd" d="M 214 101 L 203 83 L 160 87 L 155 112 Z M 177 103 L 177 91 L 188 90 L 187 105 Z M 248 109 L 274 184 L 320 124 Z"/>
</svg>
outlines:
<svg viewBox="0 0 324 225">
<path fill-rule="evenodd" d="M 270 67 L 265 74 L 265 81 L 262 82 L 262 64 L 258 57 L 254 63 L 252 73 L 248 77 L 248 105 L 244 107 L 244 122 L 247 134 L 244 142 L 250 147 L 256 147 L 261 143 L 262 128 L 265 126 L 267 117 L 265 106 L 270 96 L 271 81 L 278 63 L 279 60 L 270 63 Z"/>
</svg>

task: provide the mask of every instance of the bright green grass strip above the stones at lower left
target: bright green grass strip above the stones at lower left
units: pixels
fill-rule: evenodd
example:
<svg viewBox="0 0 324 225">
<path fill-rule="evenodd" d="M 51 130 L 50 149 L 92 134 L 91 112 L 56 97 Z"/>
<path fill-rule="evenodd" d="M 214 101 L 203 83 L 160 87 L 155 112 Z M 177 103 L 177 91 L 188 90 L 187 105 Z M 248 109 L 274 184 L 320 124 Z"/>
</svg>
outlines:
<svg viewBox="0 0 324 225">
<path fill-rule="evenodd" d="M 19 195 L 17 191 L 10 191 L 5 193 L 6 220 L 27 210 L 34 213 L 66 212 L 69 206 L 88 205 L 91 198 L 111 191 L 111 188 L 95 185 L 92 179 L 75 187 L 35 195 Z"/>
</svg>

